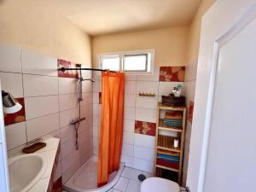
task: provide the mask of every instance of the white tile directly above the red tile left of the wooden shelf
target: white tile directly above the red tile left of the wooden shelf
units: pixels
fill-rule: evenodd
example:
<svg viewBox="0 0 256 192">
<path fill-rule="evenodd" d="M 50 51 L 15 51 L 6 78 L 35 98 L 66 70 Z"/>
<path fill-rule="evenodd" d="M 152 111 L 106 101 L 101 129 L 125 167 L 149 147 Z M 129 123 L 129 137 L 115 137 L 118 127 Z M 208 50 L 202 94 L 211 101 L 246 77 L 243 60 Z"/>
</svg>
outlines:
<svg viewBox="0 0 256 192">
<path fill-rule="evenodd" d="M 136 108 L 136 119 L 146 122 L 156 122 L 156 110 L 149 108 Z"/>
</svg>

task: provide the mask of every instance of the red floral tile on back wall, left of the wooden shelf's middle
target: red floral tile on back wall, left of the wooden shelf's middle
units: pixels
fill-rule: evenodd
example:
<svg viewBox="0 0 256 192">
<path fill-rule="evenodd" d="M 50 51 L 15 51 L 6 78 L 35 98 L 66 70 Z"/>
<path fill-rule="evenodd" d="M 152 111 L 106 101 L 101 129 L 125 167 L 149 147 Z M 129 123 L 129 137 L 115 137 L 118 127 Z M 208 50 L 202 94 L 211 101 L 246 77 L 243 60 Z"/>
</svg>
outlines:
<svg viewBox="0 0 256 192">
<path fill-rule="evenodd" d="M 134 132 L 138 134 L 148 135 L 148 136 L 155 136 L 155 123 L 149 123 L 144 121 L 135 121 Z"/>
</svg>

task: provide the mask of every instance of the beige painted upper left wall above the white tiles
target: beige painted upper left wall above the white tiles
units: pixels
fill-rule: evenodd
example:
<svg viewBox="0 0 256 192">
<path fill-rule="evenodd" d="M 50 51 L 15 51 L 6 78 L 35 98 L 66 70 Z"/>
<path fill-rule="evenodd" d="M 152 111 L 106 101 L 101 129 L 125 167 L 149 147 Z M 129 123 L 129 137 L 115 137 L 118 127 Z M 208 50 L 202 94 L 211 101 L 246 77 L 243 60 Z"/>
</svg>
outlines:
<svg viewBox="0 0 256 192">
<path fill-rule="evenodd" d="M 90 37 L 44 1 L 0 1 L 0 43 L 91 65 Z"/>
</svg>

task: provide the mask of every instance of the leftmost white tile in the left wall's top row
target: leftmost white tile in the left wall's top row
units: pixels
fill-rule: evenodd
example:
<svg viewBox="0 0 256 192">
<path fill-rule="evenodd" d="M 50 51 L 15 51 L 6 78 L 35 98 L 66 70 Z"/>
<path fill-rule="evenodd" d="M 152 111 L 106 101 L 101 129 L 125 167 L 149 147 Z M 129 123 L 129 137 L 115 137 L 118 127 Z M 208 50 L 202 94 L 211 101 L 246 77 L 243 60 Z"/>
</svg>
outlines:
<svg viewBox="0 0 256 192">
<path fill-rule="evenodd" d="M 20 48 L 0 44 L 0 71 L 21 73 Z"/>
</svg>

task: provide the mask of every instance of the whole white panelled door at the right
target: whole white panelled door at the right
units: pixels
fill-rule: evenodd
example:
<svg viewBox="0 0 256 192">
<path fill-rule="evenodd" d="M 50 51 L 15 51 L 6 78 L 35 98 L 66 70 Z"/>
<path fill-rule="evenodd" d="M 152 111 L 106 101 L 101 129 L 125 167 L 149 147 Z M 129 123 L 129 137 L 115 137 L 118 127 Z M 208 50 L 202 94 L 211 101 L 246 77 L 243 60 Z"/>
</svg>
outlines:
<svg viewBox="0 0 256 192">
<path fill-rule="evenodd" d="M 188 181 L 191 192 L 256 191 L 256 0 L 203 17 Z"/>
</svg>

